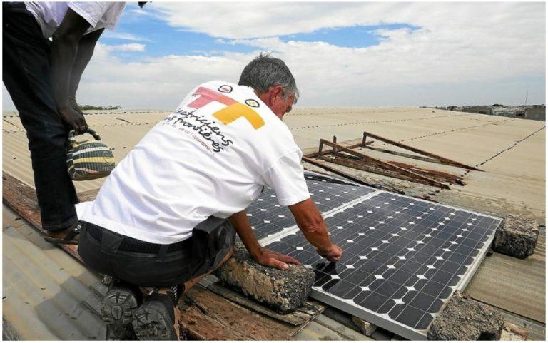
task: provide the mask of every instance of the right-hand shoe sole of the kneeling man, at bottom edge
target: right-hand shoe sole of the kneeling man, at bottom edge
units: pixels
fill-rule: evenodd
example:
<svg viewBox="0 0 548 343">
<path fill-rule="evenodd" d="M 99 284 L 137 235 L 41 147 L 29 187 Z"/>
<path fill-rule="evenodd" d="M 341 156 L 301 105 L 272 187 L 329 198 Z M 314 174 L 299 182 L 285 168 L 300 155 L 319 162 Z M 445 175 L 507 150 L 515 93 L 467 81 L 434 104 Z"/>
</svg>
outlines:
<svg viewBox="0 0 548 343">
<path fill-rule="evenodd" d="M 140 341 L 176 341 L 179 339 L 166 307 L 160 302 L 144 303 L 133 318 L 133 331 Z"/>
</svg>

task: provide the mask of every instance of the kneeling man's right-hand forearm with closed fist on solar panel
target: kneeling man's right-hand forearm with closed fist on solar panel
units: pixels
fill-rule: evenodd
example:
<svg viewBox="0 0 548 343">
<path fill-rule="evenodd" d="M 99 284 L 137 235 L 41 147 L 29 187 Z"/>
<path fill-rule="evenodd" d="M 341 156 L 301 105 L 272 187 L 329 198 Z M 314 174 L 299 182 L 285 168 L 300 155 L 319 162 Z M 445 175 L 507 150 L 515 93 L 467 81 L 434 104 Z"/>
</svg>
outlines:
<svg viewBox="0 0 548 343">
<path fill-rule="evenodd" d="M 328 227 L 325 226 L 322 214 L 312 199 L 308 198 L 295 205 L 290 205 L 289 209 L 295 217 L 297 226 L 308 242 L 316 247 L 318 254 L 330 261 L 340 260 L 342 250 L 331 242 Z"/>
</svg>

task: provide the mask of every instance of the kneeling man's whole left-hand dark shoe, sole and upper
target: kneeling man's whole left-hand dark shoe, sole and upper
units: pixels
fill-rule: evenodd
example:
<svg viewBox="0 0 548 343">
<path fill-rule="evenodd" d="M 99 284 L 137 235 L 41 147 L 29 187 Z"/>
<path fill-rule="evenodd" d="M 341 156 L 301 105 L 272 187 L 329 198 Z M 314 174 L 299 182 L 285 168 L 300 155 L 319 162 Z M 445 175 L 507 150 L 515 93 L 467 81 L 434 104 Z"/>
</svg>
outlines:
<svg viewBox="0 0 548 343">
<path fill-rule="evenodd" d="M 101 319 L 106 322 L 106 340 L 120 340 L 127 336 L 133 315 L 138 308 L 138 296 L 131 288 L 111 287 L 101 302 Z"/>
</svg>

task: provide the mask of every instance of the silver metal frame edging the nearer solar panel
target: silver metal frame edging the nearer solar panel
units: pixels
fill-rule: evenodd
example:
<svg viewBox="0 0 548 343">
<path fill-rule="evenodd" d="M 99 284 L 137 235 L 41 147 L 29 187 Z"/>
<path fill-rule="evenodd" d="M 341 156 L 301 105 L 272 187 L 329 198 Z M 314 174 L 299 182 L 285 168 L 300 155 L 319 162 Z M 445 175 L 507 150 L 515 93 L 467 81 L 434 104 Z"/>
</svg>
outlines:
<svg viewBox="0 0 548 343">
<path fill-rule="evenodd" d="M 342 206 L 340 206 L 340 208 L 337 208 L 336 210 L 330 211 L 330 213 L 325 215 L 325 218 L 326 218 L 326 220 L 329 220 L 330 217 L 334 217 L 334 216 L 338 215 L 339 213 L 344 213 L 344 211 L 347 210 L 348 208 L 352 208 L 355 205 L 360 205 L 361 203 L 364 203 L 365 201 L 367 201 L 371 198 L 374 198 L 376 196 L 388 196 L 388 197 L 404 198 L 404 199 L 411 200 L 412 202 L 420 202 L 422 204 L 430 204 L 432 206 L 437 206 L 437 207 L 440 207 L 440 208 L 447 208 L 447 209 L 451 209 L 451 210 L 457 210 L 457 211 L 460 211 L 460 212 L 463 212 L 463 213 L 470 213 L 472 215 L 487 217 L 487 218 L 491 218 L 491 219 L 494 220 L 494 224 L 493 224 L 493 225 L 495 225 L 494 229 L 488 235 L 487 240 L 482 243 L 482 247 L 481 247 L 480 251 L 477 253 L 477 255 L 475 255 L 475 257 L 472 257 L 472 262 L 470 263 L 470 265 L 468 265 L 465 274 L 460 278 L 460 280 L 458 280 L 457 285 L 452 287 L 452 291 L 450 292 L 449 295 L 447 295 L 447 298 L 442 298 L 442 299 L 445 300 L 445 302 L 447 302 L 447 300 L 451 297 L 451 295 L 456 290 L 459 290 L 459 291 L 464 290 L 466 285 L 468 284 L 468 282 L 470 282 L 470 278 L 475 274 L 475 271 L 477 270 L 477 267 L 479 267 L 479 265 L 482 262 L 484 256 L 486 255 L 487 250 L 489 249 L 489 247 L 492 243 L 492 240 L 494 239 L 494 232 L 496 231 L 496 227 L 499 225 L 501 220 L 497 217 L 492 217 L 490 215 L 484 215 L 482 213 L 476 213 L 476 212 L 470 211 L 470 210 L 463 210 L 463 209 L 455 208 L 455 207 L 449 206 L 449 205 L 440 205 L 440 204 L 437 204 L 437 203 L 432 203 L 432 202 L 427 201 L 427 200 L 418 200 L 416 198 L 412 198 L 412 197 L 409 197 L 407 195 L 395 195 L 395 194 L 388 193 L 388 192 L 385 192 L 385 191 L 380 191 L 380 190 L 377 190 L 374 193 L 367 194 L 364 197 L 361 197 L 360 199 L 355 200 L 354 202 L 342 205 Z M 330 227 L 330 230 L 334 230 L 334 228 Z M 261 244 L 270 247 L 270 246 L 272 246 L 271 243 L 277 242 L 279 240 L 283 240 L 283 239 L 285 239 L 285 237 L 288 237 L 289 235 L 295 235 L 297 232 L 298 232 L 297 228 L 295 228 L 294 230 L 288 230 L 287 232 L 283 232 L 283 234 L 276 235 L 275 237 L 268 237 L 268 239 L 262 240 Z M 275 249 L 275 247 L 273 247 L 273 249 Z M 307 250 L 305 250 L 305 249 L 303 249 L 303 251 L 299 252 L 300 256 L 298 256 L 298 258 L 299 257 L 302 258 L 303 256 L 307 257 L 308 255 L 305 255 L 305 252 L 307 252 Z M 344 252 L 344 247 L 343 247 L 343 252 Z M 287 252 L 285 252 L 285 253 L 287 253 Z M 317 257 L 316 258 L 310 257 L 307 261 L 304 261 L 304 262 L 301 261 L 301 262 L 307 263 L 310 260 L 317 260 Z M 312 267 L 312 266 L 308 265 L 307 267 Z M 395 332 L 396 334 L 400 334 L 400 336 L 405 337 L 407 339 L 425 339 L 426 338 L 427 327 L 425 329 L 415 329 L 413 327 L 402 324 L 401 322 L 397 322 L 395 319 L 390 318 L 388 316 L 388 314 L 381 314 L 381 313 L 378 313 L 378 312 L 375 312 L 375 311 L 371 311 L 370 309 L 367 309 L 365 307 L 359 307 L 355 304 L 351 304 L 350 302 L 343 299 L 342 297 L 337 297 L 337 296 L 333 295 L 332 294 L 333 292 L 335 292 L 335 291 L 333 291 L 331 289 L 329 291 L 324 291 L 321 287 L 315 286 L 315 287 L 313 287 L 311 297 L 314 297 L 317 300 L 323 301 L 326 304 L 330 304 L 331 306 L 336 307 L 338 309 L 341 309 L 342 311 L 345 311 L 347 313 L 355 315 L 356 317 L 360 317 L 362 319 L 365 319 L 368 322 L 372 322 L 373 324 L 376 324 L 377 326 L 384 327 L 385 329 L 389 329 L 390 331 Z M 352 291 L 350 291 L 350 292 L 352 292 Z M 433 314 L 434 319 L 435 319 L 435 316 L 440 313 L 441 309 L 443 308 L 443 305 L 444 304 L 442 304 L 440 306 L 440 309 L 438 309 L 437 312 L 435 314 Z M 433 319 L 430 320 L 430 323 L 428 324 L 428 326 L 430 326 L 432 321 L 433 321 Z"/>
</svg>

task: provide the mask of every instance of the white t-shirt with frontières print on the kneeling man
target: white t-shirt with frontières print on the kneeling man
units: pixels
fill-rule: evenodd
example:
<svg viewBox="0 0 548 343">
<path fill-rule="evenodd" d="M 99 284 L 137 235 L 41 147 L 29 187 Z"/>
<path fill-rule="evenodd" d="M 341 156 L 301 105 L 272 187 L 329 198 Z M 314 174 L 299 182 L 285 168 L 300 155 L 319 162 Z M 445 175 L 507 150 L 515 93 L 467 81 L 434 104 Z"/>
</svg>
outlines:
<svg viewBox="0 0 548 343">
<path fill-rule="evenodd" d="M 302 152 L 252 88 L 203 83 L 156 124 L 108 176 L 80 220 L 146 242 L 171 244 L 210 215 L 229 217 L 263 186 L 280 205 L 310 198 Z"/>
</svg>

